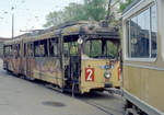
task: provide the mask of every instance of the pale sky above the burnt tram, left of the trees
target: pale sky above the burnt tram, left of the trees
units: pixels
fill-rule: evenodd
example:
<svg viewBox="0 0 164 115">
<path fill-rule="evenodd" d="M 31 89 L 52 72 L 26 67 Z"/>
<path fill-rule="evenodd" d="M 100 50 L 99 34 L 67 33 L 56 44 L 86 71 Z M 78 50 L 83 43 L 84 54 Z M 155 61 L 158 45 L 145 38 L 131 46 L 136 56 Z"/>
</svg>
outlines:
<svg viewBox="0 0 164 115">
<path fill-rule="evenodd" d="M 17 36 L 30 30 L 43 28 L 49 12 L 62 10 L 70 2 L 80 3 L 82 0 L 1 0 L 0 37 L 12 36 L 12 13 L 14 36 Z"/>
</svg>

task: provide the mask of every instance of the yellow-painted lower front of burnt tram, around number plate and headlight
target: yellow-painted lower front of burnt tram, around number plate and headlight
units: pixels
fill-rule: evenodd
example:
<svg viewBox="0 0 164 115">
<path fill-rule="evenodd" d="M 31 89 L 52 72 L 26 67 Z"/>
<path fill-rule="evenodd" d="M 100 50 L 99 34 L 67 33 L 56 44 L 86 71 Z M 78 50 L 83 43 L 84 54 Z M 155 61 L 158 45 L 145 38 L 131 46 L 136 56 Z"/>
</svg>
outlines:
<svg viewBox="0 0 164 115">
<path fill-rule="evenodd" d="M 105 87 L 105 83 L 112 83 L 113 87 L 120 87 L 120 80 L 118 80 L 118 71 L 117 68 L 119 67 L 119 62 L 115 64 L 113 69 L 109 71 L 112 72 L 110 79 L 105 79 L 104 72 L 105 69 L 102 68 L 102 66 L 105 66 L 107 62 L 109 62 L 109 59 L 86 59 L 82 60 L 82 71 L 81 71 L 81 84 L 80 84 L 80 91 L 83 92 L 90 92 L 92 89 L 103 89 Z M 94 81 L 85 81 L 85 68 L 94 68 Z"/>
</svg>

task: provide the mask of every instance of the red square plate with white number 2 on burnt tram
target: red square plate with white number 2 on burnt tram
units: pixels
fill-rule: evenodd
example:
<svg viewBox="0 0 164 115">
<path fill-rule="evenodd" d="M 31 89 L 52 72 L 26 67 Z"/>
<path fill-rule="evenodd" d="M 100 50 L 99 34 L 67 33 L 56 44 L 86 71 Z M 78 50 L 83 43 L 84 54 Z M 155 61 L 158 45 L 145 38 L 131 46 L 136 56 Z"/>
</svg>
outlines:
<svg viewBox="0 0 164 115">
<path fill-rule="evenodd" d="M 85 68 L 85 81 L 94 81 L 94 68 Z"/>
</svg>

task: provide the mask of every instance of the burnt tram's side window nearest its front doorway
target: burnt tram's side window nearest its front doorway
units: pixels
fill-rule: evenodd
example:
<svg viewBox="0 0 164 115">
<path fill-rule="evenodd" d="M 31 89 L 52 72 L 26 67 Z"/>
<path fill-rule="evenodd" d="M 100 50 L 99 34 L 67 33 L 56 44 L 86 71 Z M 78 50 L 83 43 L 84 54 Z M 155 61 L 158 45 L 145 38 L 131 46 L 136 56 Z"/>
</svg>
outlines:
<svg viewBox="0 0 164 115">
<path fill-rule="evenodd" d="M 49 39 L 49 55 L 51 57 L 58 56 L 58 39 L 57 38 Z"/>
</svg>

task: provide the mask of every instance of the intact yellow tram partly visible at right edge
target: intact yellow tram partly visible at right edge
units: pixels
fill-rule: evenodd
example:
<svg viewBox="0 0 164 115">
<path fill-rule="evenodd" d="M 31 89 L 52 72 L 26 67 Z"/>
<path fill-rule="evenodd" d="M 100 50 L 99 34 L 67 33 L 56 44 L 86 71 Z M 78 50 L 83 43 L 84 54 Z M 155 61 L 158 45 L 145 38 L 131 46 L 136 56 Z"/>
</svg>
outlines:
<svg viewBox="0 0 164 115">
<path fill-rule="evenodd" d="M 127 115 L 164 115 L 164 0 L 134 0 L 122 14 Z"/>
</svg>

